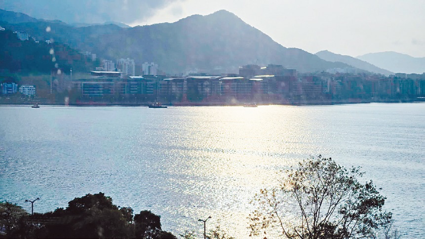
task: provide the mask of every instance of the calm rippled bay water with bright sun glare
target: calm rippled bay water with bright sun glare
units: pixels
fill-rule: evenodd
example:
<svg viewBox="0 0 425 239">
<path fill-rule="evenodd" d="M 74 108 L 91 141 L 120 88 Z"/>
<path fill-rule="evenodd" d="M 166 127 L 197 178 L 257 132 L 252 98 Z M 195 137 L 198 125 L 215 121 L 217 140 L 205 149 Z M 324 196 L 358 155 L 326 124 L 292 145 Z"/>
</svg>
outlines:
<svg viewBox="0 0 425 239">
<path fill-rule="evenodd" d="M 244 107 L 0 106 L 0 200 L 31 211 L 104 192 L 176 235 L 247 238 L 249 201 L 322 154 L 361 166 L 404 238 L 425 238 L 425 103 Z"/>
</svg>

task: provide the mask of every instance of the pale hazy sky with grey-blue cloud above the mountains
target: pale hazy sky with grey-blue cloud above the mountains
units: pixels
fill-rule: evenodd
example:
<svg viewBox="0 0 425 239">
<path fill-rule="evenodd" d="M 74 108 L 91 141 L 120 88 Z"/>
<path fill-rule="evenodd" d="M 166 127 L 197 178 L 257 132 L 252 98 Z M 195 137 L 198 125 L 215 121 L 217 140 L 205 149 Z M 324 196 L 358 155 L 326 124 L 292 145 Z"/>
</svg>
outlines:
<svg viewBox="0 0 425 239">
<path fill-rule="evenodd" d="M 225 9 L 285 47 L 425 57 L 425 0 L 0 0 L 0 8 L 66 23 L 130 26 Z"/>
</svg>

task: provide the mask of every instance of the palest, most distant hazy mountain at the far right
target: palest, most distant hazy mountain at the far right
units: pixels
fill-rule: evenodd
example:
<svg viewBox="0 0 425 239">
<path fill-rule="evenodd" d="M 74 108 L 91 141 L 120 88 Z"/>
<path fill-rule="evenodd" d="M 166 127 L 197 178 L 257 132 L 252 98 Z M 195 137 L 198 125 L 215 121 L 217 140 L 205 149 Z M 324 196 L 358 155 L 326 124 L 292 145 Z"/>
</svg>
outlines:
<svg viewBox="0 0 425 239">
<path fill-rule="evenodd" d="M 368 53 L 356 58 L 396 73 L 422 74 L 425 72 L 425 57 L 418 58 L 393 51 L 386 51 Z"/>
</svg>

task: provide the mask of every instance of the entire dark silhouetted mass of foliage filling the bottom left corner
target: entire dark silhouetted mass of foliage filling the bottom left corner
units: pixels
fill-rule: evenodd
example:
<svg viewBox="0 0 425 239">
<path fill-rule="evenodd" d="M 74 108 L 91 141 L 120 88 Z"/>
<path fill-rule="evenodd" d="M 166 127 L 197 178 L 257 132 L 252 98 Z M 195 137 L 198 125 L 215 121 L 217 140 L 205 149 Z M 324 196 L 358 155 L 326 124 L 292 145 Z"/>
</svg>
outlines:
<svg viewBox="0 0 425 239">
<path fill-rule="evenodd" d="M 29 215 L 22 207 L 0 203 L 0 225 L 5 238 L 146 238 L 176 239 L 161 230 L 160 216 L 150 211 L 134 215 L 117 207 L 103 193 L 75 198 L 68 207 Z"/>
</svg>

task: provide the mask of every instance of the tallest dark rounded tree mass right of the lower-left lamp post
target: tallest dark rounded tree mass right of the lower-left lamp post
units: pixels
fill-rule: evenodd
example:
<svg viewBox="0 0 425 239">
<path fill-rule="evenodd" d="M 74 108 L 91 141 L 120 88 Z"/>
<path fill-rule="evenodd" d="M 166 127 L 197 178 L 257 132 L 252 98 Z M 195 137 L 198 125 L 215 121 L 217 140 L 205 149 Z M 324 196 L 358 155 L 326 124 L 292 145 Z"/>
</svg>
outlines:
<svg viewBox="0 0 425 239">
<path fill-rule="evenodd" d="M 131 238 L 131 208 L 118 209 L 103 193 L 87 194 L 68 203 L 66 209 L 57 208 L 33 218 L 45 225 L 37 232 L 41 238 Z"/>
</svg>

